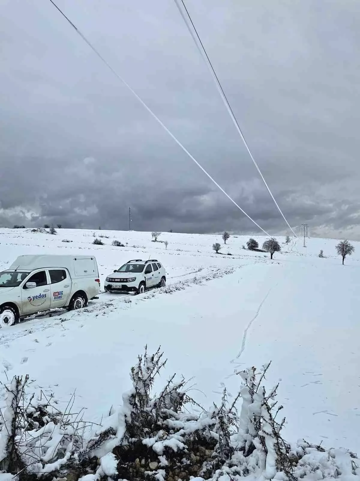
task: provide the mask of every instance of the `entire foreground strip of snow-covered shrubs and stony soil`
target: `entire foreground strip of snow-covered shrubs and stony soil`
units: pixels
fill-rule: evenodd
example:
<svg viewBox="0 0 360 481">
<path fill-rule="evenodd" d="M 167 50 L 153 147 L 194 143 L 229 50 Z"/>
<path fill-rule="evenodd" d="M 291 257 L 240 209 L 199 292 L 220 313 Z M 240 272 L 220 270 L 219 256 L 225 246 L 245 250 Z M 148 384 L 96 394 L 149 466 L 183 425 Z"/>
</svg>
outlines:
<svg viewBox="0 0 360 481">
<path fill-rule="evenodd" d="M 325 452 L 306 441 L 290 446 L 283 439 L 285 418 L 276 420 L 282 409 L 278 385 L 270 392 L 264 387 L 270 364 L 238 372 L 239 393 L 229 400 L 224 389 L 221 404 L 208 410 L 175 375 L 153 392 L 165 365 L 160 348 L 155 354 L 145 348 L 131 369 L 123 406 L 110 408 L 104 426 L 86 423 L 84 411 L 72 413 L 74 396 L 60 412 L 52 395 L 27 393 L 28 376 L 15 377 L 0 413 L 0 479 L 1 471 L 18 474 L 20 481 L 52 481 L 69 472 L 88 481 L 360 479 L 355 454 Z"/>
</svg>

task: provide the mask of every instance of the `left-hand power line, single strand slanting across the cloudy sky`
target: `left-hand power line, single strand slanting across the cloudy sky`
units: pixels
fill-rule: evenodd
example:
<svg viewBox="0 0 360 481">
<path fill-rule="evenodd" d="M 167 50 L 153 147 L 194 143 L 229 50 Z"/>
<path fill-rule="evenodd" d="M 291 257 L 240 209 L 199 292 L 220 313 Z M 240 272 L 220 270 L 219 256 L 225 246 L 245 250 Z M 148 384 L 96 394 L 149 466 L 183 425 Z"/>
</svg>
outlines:
<svg viewBox="0 0 360 481">
<path fill-rule="evenodd" d="M 91 48 L 91 50 L 99 57 L 99 59 L 105 63 L 105 65 L 111 70 L 111 72 L 117 76 L 119 78 L 119 80 L 132 92 L 132 94 L 137 98 L 137 100 L 144 106 L 144 108 L 149 112 L 149 114 L 151 114 L 156 122 L 158 122 L 161 127 L 163 127 L 164 130 L 166 130 L 166 132 L 168 132 L 169 136 L 175 140 L 175 142 L 181 147 L 181 149 L 192 159 L 192 161 L 204 172 L 204 174 L 209 177 L 209 179 L 216 185 L 216 187 L 218 189 L 220 189 L 223 194 L 225 194 L 228 199 L 234 204 L 236 205 L 236 207 L 238 207 L 238 209 L 240 209 L 240 211 L 246 215 L 246 217 L 248 217 L 248 219 L 250 219 L 256 227 L 258 227 L 260 230 L 262 230 L 267 236 L 270 236 L 270 234 L 268 234 L 266 232 L 266 230 L 264 230 L 262 227 L 259 226 L 259 224 L 257 224 L 251 217 L 250 215 L 246 214 L 246 212 L 244 210 L 241 209 L 240 205 L 238 205 L 229 195 L 227 192 L 225 192 L 225 190 L 220 187 L 220 185 L 216 182 L 216 180 L 213 179 L 213 177 L 211 177 L 210 174 L 208 174 L 208 172 L 204 169 L 204 167 L 202 167 L 198 161 L 192 156 L 192 154 L 190 152 L 188 152 L 186 150 L 186 148 L 181 144 L 181 142 L 170 132 L 170 130 L 168 129 L 168 127 L 166 127 L 162 122 L 161 120 L 156 116 L 156 114 L 154 114 L 154 112 L 146 105 L 146 103 L 138 96 L 138 94 L 132 90 L 132 88 L 130 87 L 129 84 L 127 84 L 125 82 L 125 80 L 111 67 L 111 65 L 104 59 L 104 57 L 96 50 L 96 48 L 90 43 L 90 41 L 80 32 L 80 30 L 71 22 L 71 20 L 69 20 L 69 18 L 65 15 L 65 13 L 63 13 L 60 8 L 53 2 L 53 0 L 49 0 L 53 5 L 54 7 L 56 7 L 56 9 L 61 13 L 61 15 L 69 22 L 69 24 L 75 29 L 76 33 L 78 33 L 80 35 L 80 37 L 84 40 L 84 42 Z"/>
</svg>

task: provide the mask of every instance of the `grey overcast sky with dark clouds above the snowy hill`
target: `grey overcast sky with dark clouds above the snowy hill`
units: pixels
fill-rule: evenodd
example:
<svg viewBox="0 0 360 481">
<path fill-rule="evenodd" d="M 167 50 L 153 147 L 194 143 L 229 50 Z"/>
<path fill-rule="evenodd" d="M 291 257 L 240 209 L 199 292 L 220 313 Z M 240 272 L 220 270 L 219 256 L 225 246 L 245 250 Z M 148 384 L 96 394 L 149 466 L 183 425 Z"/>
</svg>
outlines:
<svg viewBox="0 0 360 481">
<path fill-rule="evenodd" d="M 288 233 L 173 0 L 57 0 L 196 160 Z M 291 226 L 360 240 L 360 2 L 186 0 Z M 0 225 L 259 233 L 47 0 L 0 0 Z"/>
</svg>

